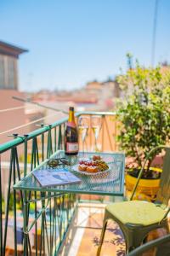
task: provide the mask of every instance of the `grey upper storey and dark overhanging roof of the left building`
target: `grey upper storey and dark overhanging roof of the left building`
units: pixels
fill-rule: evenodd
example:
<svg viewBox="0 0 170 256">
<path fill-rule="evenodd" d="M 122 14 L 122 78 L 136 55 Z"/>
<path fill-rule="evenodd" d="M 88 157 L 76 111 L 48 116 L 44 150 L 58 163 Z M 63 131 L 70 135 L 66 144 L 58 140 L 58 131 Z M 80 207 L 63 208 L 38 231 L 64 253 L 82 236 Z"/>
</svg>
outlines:
<svg viewBox="0 0 170 256">
<path fill-rule="evenodd" d="M 24 52 L 27 50 L 0 41 L 0 89 L 18 90 L 18 58 Z"/>
</svg>

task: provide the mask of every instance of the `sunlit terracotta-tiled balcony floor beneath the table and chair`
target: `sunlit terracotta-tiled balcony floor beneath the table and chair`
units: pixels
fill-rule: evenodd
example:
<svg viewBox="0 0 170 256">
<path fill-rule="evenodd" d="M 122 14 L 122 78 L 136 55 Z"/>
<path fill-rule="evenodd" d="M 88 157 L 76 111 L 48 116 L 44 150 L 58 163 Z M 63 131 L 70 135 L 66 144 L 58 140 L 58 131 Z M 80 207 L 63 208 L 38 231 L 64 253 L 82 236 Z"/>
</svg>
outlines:
<svg viewBox="0 0 170 256">
<path fill-rule="evenodd" d="M 99 245 L 104 212 L 104 204 L 79 204 L 77 216 L 59 256 L 95 256 Z M 149 240 L 165 234 L 166 232 L 162 229 L 151 232 Z M 125 255 L 124 239 L 116 223 L 110 222 L 108 224 L 100 255 Z M 144 255 L 151 256 L 153 253 L 145 253 Z"/>
</svg>

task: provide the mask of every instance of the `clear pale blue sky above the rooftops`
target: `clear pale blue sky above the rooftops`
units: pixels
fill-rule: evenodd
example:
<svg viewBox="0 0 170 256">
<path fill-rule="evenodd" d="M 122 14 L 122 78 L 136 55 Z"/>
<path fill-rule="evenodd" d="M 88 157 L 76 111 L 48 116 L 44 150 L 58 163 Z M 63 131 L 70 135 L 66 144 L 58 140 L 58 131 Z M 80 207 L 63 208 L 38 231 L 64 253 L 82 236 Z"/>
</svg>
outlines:
<svg viewBox="0 0 170 256">
<path fill-rule="evenodd" d="M 0 40 L 20 55 L 20 90 L 74 90 L 113 78 L 126 54 L 149 67 L 156 0 L 0 0 Z M 170 62 L 170 1 L 158 0 L 155 63 Z"/>
</svg>

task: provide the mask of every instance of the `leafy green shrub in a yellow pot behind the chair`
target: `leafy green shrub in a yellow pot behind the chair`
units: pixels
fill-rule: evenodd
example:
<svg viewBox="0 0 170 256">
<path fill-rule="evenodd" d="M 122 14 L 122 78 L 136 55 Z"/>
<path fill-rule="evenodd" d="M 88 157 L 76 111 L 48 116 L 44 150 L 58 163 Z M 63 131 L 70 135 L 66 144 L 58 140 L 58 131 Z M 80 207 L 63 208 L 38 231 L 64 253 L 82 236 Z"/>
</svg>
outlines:
<svg viewBox="0 0 170 256">
<path fill-rule="evenodd" d="M 126 96 L 117 105 L 117 119 L 120 121 L 117 139 L 127 159 L 131 158 L 127 162 L 126 181 L 128 189 L 133 189 L 150 149 L 166 144 L 170 138 L 170 68 L 166 71 L 161 67 L 144 68 L 136 62 L 134 68 L 117 77 L 117 82 Z M 151 162 L 150 158 L 139 183 L 139 191 L 155 195 L 160 170 L 150 169 Z M 156 183 L 156 189 L 150 190 L 150 180 Z"/>
</svg>

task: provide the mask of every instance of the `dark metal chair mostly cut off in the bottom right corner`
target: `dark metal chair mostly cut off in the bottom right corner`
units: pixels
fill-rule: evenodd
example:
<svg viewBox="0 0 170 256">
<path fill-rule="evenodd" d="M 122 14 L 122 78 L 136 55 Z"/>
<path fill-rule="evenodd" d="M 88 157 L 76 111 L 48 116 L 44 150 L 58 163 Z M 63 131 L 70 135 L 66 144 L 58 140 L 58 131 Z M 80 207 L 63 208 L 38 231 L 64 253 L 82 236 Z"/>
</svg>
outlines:
<svg viewBox="0 0 170 256">
<path fill-rule="evenodd" d="M 154 241 L 149 241 L 144 245 L 134 249 L 127 256 L 142 256 L 142 253 L 147 253 L 154 248 L 155 256 L 169 256 L 170 255 L 170 235 L 162 236 Z"/>
</svg>

